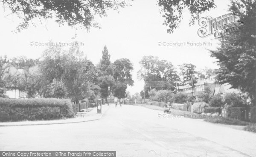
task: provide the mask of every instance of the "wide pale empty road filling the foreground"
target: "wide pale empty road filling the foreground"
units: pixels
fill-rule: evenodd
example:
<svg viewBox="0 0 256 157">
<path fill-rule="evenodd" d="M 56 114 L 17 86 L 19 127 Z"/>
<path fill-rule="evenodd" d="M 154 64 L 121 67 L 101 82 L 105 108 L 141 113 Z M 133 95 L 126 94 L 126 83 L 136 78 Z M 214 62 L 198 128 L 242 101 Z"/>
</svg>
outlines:
<svg viewBox="0 0 256 157">
<path fill-rule="evenodd" d="M 111 106 L 91 122 L 0 127 L 2 151 L 106 150 L 118 157 L 256 157 L 255 139 L 247 131 L 127 105 Z"/>
</svg>

